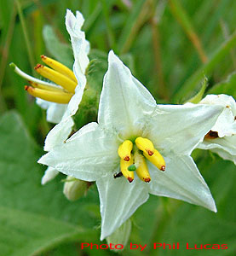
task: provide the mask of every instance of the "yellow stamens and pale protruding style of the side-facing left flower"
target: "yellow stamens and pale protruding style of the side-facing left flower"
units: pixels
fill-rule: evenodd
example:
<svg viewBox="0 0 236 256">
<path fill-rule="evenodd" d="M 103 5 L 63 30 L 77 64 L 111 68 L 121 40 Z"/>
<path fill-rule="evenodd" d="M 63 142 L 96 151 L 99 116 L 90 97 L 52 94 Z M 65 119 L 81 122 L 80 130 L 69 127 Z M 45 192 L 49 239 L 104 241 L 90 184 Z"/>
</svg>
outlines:
<svg viewBox="0 0 236 256">
<path fill-rule="evenodd" d="M 41 98 L 47 102 L 56 102 L 61 104 L 70 102 L 78 84 L 72 70 L 45 55 L 41 55 L 41 59 L 49 67 L 37 64 L 34 69 L 37 73 L 55 84 L 50 84 L 48 82 L 32 78 L 26 73 L 23 73 L 20 68 L 16 67 L 13 63 L 11 64 L 11 67 L 13 67 L 14 71 L 20 76 L 29 80 L 31 86 L 26 85 L 25 90 L 27 90 L 27 92 L 32 96 Z"/>
</svg>

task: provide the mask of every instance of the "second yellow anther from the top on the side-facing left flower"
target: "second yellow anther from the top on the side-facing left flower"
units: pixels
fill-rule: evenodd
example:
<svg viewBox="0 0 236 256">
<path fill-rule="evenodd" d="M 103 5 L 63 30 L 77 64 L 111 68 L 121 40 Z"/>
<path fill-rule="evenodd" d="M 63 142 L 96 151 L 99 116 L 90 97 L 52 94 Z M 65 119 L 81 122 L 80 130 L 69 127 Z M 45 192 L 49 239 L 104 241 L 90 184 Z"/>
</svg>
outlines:
<svg viewBox="0 0 236 256">
<path fill-rule="evenodd" d="M 68 79 L 65 75 L 58 73 L 57 71 L 49 67 L 45 67 L 41 64 L 37 64 L 37 66 L 34 69 L 37 71 L 37 73 L 40 73 L 44 78 L 49 79 L 55 82 L 55 84 L 59 84 L 67 91 L 74 93 L 77 83 L 72 81 L 72 79 Z"/>
</svg>

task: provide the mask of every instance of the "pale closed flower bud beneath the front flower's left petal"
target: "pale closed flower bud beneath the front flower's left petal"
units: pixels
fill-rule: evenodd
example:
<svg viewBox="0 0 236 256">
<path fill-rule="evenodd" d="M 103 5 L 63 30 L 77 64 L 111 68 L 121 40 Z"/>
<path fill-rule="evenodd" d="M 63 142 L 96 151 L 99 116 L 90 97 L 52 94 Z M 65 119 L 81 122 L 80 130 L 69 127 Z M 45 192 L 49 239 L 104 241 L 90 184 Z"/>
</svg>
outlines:
<svg viewBox="0 0 236 256">
<path fill-rule="evenodd" d="M 75 177 L 67 176 L 63 194 L 66 195 L 68 200 L 76 201 L 87 192 L 90 184 Z"/>
</svg>

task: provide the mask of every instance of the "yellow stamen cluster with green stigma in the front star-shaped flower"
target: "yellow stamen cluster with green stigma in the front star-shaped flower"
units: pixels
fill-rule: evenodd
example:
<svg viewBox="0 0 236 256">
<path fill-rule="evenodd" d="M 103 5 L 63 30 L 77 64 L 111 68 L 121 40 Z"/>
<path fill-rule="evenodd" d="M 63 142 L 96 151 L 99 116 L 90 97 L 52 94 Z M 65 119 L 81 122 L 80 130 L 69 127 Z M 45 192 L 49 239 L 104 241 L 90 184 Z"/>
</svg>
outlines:
<svg viewBox="0 0 236 256">
<path fill-rule="evenodd" d="M 137 137 L 135 145 L 130 140 L 125 140 L 118 148 L 120 157 L 120 171 L 131 183 L 135 178 L 135 173 L 142 181 L 151 181 L 147 168 L 146 159 L 157 166 L 160 171 L 165 170 L 163 156 L 154 148 L 153 143 L 144 137 Z"/>
</svg>

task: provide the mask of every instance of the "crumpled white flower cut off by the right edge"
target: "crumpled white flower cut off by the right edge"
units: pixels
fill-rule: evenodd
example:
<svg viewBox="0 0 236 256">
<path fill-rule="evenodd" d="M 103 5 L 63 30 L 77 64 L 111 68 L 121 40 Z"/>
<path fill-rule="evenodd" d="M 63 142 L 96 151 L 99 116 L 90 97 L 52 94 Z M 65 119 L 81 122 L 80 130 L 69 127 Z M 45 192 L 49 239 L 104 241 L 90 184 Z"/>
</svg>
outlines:
<svg viewBox="0 0 236 256">
<path fill-rule="evenodd" d="M 232 96 L 208 95 L 199 104 L 219 105 L 223 111 L 198 148 L 210 149 L 236 165 L 236 102 Z"/>
</svg>

